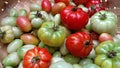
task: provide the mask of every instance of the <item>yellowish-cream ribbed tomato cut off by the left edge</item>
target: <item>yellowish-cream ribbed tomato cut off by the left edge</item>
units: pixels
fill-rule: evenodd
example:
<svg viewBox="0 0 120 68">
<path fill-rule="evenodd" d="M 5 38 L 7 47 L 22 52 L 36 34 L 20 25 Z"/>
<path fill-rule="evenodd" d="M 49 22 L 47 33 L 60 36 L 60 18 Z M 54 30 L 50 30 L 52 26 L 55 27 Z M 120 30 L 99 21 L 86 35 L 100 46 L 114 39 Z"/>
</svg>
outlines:
<svg viewBox="0 0 120 68">
<path fill-rule="evenodd" d="M 0 37 L 2 43 L 12 42 L 15 38 L 12 27 L 9 25 L 2 26 L 0 28 Z"/>
</svg>

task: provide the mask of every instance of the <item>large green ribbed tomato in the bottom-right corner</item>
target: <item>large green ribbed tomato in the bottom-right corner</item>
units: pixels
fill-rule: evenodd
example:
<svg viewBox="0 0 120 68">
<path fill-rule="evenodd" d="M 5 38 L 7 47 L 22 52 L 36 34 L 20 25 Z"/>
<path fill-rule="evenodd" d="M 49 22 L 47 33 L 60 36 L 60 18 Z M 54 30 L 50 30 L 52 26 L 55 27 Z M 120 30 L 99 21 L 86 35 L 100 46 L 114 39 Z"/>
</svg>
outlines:
<svg viewBox="0 0 120 68">
<path fill-rule="evenodd" d="M 94 63 L 101 68 L 119 68 L 120 67 L 120 46 L 113 41 L 104 41 L 96 49 Z"/>
</svg>

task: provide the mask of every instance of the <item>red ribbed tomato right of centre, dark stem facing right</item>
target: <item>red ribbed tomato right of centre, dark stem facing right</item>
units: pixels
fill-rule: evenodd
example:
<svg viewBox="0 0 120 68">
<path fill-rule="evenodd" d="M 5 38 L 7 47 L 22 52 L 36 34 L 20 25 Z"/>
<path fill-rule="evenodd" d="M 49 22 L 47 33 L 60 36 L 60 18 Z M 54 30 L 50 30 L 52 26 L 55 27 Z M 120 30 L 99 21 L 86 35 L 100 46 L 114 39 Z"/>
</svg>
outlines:
<svg viewBox="0 0 120 68">
<path fill-rule="evenodd" d="M 71 34 L 66 39 L 66 48 L 76 57 L 87 57 L 92 50 L 92 39 L 85 32 Z"/>
</svg>

